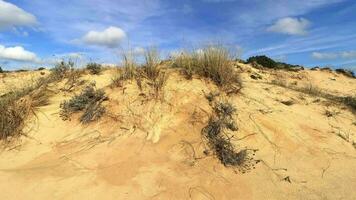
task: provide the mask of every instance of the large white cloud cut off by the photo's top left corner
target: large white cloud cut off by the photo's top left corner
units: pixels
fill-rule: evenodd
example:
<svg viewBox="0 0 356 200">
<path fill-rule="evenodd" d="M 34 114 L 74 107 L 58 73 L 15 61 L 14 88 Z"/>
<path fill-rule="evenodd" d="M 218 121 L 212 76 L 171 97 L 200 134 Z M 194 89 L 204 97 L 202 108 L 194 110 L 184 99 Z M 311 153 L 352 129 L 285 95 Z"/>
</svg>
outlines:
<svg viewBox="0 0 356 200">
<path fill-rule="evenodd" d="M 14 4 L 0 0 L 0 29 L 16 26 L 32 26 L 36 17 Z"/>
</svg>

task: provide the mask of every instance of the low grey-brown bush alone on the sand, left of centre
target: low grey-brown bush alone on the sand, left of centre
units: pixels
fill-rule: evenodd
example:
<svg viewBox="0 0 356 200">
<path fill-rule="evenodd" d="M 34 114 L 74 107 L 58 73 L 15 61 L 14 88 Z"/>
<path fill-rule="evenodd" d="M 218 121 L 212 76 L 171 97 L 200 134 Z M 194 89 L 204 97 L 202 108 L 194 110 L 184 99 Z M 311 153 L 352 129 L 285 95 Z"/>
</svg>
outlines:
<svg viewBox="0 0 356 200">
<path fill-rule="evenodd" d="M 82 123 L 99 119 L 105 113 L 102 102 L 107 100 L 103 90 L 95 89 L 95 84 L 87 86 L 79 95 L 61 103 L 60 115 L 63 120 L 69 120 L 73 113 L 84 111 L 80 117 Z"/>
</svg>

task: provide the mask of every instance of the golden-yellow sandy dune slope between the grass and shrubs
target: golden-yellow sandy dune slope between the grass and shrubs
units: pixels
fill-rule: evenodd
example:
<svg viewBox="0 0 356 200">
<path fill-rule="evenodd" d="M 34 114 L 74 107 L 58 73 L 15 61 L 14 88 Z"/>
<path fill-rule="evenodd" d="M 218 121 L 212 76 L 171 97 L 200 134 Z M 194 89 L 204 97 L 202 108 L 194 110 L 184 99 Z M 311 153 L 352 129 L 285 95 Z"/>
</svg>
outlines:
<svg viewBox="0 0 356 200">
<path fill-rule="evenodd" d="M 59 104 L 73 93 L 51 87 L 56 95 L 28 123 L 29 136 L 0 153 L 0 199 L 356 199 L 355 115 L 267 84 L 283 79 L 350 95 L 356 79 L 242 64 L 240 70 L 244 89 L 228 97 L 238 113 L 232 140 L 238 149 L 258 149 L 255 159 L 262 160 L 248 173 L 203 153 L 201 129 L 212 113 L 204 94 L 217 90 L 214 84 L 170 71 L 164 98 L 156 101 L 135 82 L 106 87 L 113 73 L 107 70 L 83 77 L 110 99 L 109 115 L 89 126 L 61 120 Z M 281 103 L 286 100 L 294 104 Z M 325 110 L 338 114 L 327 117 Z"/>
</svg>

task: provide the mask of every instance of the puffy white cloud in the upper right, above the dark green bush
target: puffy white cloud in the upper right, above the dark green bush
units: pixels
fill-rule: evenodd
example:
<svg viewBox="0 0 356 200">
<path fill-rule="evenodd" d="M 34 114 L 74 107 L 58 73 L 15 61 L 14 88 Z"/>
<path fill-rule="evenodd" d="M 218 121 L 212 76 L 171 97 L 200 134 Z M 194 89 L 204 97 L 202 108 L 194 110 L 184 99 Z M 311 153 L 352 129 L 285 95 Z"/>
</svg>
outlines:
<svg viewBox="0 0 356 200">
<path fill-rule="evenodd" d="M 286 17 L 277 20 L 275 24 L 267 28 L 267 31 L 288 35 L 305 35 L 310 27 L 310 22 L 304 18 Z"/>
</svg>

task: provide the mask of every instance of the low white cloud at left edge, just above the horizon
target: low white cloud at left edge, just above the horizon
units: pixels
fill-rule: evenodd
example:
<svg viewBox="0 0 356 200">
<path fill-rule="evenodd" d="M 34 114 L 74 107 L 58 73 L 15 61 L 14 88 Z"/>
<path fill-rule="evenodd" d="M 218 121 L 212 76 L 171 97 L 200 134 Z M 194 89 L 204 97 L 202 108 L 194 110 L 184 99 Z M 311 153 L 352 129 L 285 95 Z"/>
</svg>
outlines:
<svg viewBox="0 0 356 200">
<path fill-rule="evenodd" d="M 0 59 L 27 62 L 38 61 L 35 53 L 27 51 L 21 46 L 5 47 L 0 45 Z"/>
</svg>

